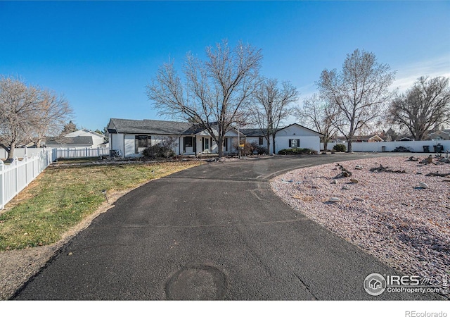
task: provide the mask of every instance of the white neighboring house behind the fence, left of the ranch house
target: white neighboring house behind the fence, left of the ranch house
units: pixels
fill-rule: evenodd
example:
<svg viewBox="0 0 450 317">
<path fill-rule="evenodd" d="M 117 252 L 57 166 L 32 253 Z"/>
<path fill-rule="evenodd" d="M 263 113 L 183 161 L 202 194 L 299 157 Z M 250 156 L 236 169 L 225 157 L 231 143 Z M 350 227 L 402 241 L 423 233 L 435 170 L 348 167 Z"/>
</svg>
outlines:
<svg viewBox="0 0 450 317">
<path fill-rule="evenodd" d="M 47 137 L 46 147 L 107 147 L 105 136 L 86 129 L 70 132 L 63 137 Z"/>
</svg>

